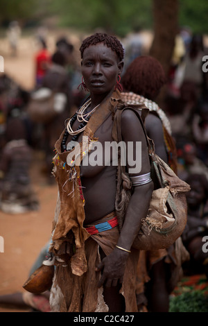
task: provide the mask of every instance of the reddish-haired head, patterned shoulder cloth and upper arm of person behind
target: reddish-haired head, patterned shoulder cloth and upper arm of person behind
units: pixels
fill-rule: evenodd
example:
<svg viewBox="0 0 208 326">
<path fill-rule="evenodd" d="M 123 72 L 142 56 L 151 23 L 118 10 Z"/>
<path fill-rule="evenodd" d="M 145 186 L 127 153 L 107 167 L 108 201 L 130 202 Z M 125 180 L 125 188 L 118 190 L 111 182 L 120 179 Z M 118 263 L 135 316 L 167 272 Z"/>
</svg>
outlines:
<svg viewBox="0 0 208 326">
<path fill-rule="evenodd" d="M 155 152 L 177 173 L 177 151 L 171 136 L 171 123 L 164 110 L 155 103 L 166 83 L 162 65 L 150 55 L 141 55 L 126 69 L 121 79 L 122 98 L 128 105 L 144 104 L 150 110 L 146 117 L 146 131 L 153 139 Z"/>
</svg>

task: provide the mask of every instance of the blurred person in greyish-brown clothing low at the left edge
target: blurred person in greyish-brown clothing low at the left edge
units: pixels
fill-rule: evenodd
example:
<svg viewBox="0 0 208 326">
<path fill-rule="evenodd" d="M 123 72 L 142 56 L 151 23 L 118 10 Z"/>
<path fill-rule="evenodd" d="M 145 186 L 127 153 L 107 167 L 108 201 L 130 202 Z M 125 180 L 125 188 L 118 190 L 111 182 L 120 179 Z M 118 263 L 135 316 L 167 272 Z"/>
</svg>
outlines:
<svg viewBox="0 0 208 326">
<path fill-rule="evenodd" d="M 0 209 L 8 214 L 37 210 L 39 202 L 30 178 L 32 162 L 24 120 L 18 109 L 10 112 L 6 123 L 6 145 L 0 160 Z"/>
</svg>

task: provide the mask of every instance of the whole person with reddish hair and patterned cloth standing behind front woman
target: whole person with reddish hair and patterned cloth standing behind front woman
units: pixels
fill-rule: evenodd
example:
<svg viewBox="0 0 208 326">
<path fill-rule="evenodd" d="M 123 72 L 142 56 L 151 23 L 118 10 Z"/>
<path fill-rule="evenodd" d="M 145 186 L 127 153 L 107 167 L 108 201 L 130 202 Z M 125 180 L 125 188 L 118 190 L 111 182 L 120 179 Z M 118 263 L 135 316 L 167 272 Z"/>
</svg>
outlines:
<svg viewBox="0 0 208 326">
<path fill-rule="evenodd" d="M 171 125 L 155 98 L 166 83 L 162 65 L 149 55 L 137 57 L 121 79 L 126 105 L 144 104 L 149 109 L 146 132 L 155 152 L 177 173 L 177 152 Z M 182 275 L 182 261 L 189 259 L 181 238 L 171 248 L 141 250 L 137 268 L 137 304 L 141 311 L 168 312 L 169 294 Z"/>
</svg>

